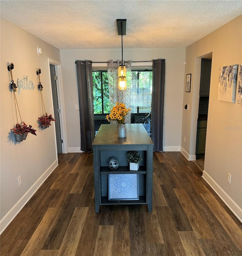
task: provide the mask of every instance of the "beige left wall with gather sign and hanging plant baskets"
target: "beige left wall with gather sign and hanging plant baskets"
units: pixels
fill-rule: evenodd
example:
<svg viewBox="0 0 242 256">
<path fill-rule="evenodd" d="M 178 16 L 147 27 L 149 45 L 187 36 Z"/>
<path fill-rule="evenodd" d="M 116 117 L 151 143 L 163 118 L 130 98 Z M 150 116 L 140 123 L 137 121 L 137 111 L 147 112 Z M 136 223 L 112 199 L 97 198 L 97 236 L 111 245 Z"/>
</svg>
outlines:
<svg viewBox="0 0 242 256">
<path fill-rule="evenodd" d="M 37 54 L 37 46 L 42 47 L 43 54 Z M 54 125 L 46 130 L 37 128 L 37 119 L 41 115 L 37 68 L 42 71 L 40 79 L 45 108 L 48 113 L 52 108 L 48 58 L 60 61 L 59 49 L 1 19 L 1 230 L 57 164 Z M 17 119 L 13 93 L 9 89 L 9 62 L 14 64 L 12 74 L 16 84 L 18 78 L 28 76 L 35 86 L 34 90 L 21 89 L 20 95 L 16 94 L 22 120 L 37 130 L 37 136 L 30 134 L 20 143 L 11 132 Z M 20 175 L 22 186 L 19 187 Z"/>
</svg>

